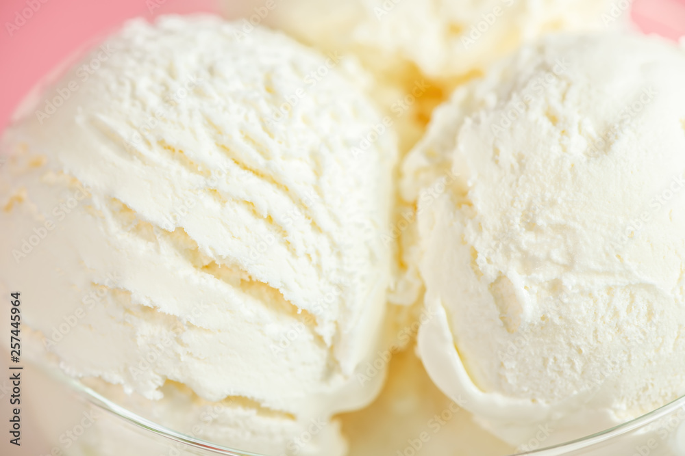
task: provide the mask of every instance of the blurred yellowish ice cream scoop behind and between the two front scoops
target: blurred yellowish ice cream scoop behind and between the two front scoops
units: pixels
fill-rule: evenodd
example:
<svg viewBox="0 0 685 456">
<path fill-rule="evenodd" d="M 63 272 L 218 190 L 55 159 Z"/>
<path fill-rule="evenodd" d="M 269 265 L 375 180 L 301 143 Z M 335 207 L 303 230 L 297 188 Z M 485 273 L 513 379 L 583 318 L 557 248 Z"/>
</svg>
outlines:
<svg viewBox="0 0 685 456">
<path fill-rule="evenodd" d="M 230 12 L 234 2 L 225 2 Z M 264 21 L 327 53 L 351 55 L 374 77 L 371 96 L 386 108 L 408 152 L 433 111 L 453 90 L 479 77 L 523 42 L 558 30 L 624 27 L 630 3 L 613 0 L 281 0 L 245 2 L 250 21 Z M 262 18 L 260 16 L 264 16 Z M 399 202 L 387 236 L 399 241 L 390 301 L 406 325 L 423 286 L 414 263 L 414 208 Z"/>
</svg>

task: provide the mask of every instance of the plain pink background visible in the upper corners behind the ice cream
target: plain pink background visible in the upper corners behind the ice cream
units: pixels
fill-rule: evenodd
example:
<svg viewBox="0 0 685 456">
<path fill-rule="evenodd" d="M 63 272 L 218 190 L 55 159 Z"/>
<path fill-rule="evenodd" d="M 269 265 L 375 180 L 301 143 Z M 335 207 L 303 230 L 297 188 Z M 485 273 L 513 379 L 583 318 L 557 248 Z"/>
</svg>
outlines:
<svg viewBox="0 0 685 456">
<path fill-rule="evenodd" d="M 126 18 L 215 10 L 216 0 L 0 0 L 0 131 L 42 75 Z M 685 0 L 636 0 L 634 10 L 645 31 L 685 34 Z"/>
</svg>

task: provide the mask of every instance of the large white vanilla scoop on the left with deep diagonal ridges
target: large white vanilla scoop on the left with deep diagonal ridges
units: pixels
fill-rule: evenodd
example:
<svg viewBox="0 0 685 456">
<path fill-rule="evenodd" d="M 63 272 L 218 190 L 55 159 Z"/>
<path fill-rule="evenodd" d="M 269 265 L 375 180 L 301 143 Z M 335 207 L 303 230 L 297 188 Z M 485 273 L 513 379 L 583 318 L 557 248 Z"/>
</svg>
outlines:
<svg viewBox="0 0 685 456">
<path fill-rule="evenodd" d="M 233 399 L 241 449 L 271 454 L 382 384 L 354 371 L 382 334 L 396 144 L 364 143 L 381 116 L 330 57 L 238 32 L 132 21 L 24 107 L 0 269 L 65 371 Z"/>
</svg>

